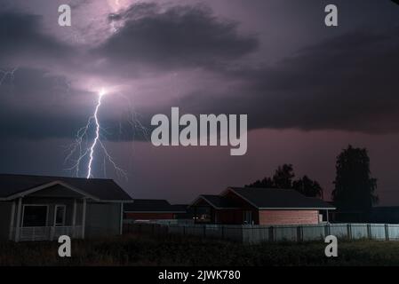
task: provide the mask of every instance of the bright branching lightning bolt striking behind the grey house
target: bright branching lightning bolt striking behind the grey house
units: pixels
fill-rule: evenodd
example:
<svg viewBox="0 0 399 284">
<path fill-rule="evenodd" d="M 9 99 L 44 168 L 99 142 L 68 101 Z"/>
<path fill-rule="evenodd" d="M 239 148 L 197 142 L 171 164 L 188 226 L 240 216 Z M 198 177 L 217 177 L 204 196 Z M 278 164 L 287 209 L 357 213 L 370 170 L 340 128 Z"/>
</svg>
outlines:
<svg viewBox="0 0 399 284">
<path fill-rule="evenodd" d="M 88 159 L 88 163 L 87 163 L 87 170 L 86 170 L 85 177 L 86 178 L 93 177 L 92 164 L 95 160 L 94 154 L 96 151 L 96 147 L 100 146 L 100 149 L 102 150 L 102 154 L 104 155 L 104 164 L 103 164 L 104 176 L 106 176 L 106 162 L 108 162 L 116 170 L 116 174 L 118 177 L 124 177 L 125 179 L 127 179 L 126 172 L 117 166 L 117 164 L 114 161 L 114 159 L 112 158 L 112 156 L 108 153 L 107 147 L 101 141 L 101 138 L 102 138 L 101 131 L 105 131 L 105 130 L 103 130 L 100 126 L 99 112 L 100 112 L 100 106 L 102 103 L 102 98 L 104 97 L 105 94 L 106 94 L 106 92 L 104 90 L 101 90 L 99 92 L 99 96 L 98 96 L 97 104 L 95 106 L 94 113 L 92 114 L 92 116 L 89 117 L 86 125 L 84 127 L 82 127 L 81 129 L 77 130 L 75 142 L 67 147 L 67 151 L 69 153 L 68 153 L 67 157 L 65 158 L 64 163 L 71 161 L 72 157 L 77 154 L 77 159 L 73 163 L 72 167 L 67 169 L 69 171 L 75 171 L 76 177 L 80 176 L 81 165 L 87 159 Z M 92 130 L 93 125 L 94 125 L 95 135 L 92 140 L 92 143 L 89 143 L 89 137 L 90 137 L 89 131 Z"/>
</svg>

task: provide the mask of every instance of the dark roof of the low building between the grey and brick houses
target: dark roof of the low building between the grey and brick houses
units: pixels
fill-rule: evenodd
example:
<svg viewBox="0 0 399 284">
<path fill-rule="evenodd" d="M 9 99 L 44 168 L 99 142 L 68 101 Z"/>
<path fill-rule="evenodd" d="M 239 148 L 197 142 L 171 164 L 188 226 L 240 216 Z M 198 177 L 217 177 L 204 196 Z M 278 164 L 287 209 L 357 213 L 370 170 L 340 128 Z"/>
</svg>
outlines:
<svg viewBox="0 0 399 284">
<path fill-rule="evenodd" d="M 184 213 L 186 209 L 171 205 L 165 200 L 154 199 L 135 199 L 131 204 L 124 206 L 124 212 L 168 212 L 168 213 Z"/>
</svg>

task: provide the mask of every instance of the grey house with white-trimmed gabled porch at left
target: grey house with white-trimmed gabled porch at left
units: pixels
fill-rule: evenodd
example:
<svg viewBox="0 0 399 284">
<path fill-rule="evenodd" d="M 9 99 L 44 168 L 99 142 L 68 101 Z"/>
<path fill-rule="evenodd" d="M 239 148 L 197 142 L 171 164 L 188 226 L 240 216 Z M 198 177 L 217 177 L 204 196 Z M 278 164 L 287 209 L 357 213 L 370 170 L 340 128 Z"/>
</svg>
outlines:
<svg viewBox="0 0 399 284">
<path fill-rule="evenodd" d="M 0 241 L 120 234 L 127 202 L 110 179 L 0 175 Z"/>
</svg>

